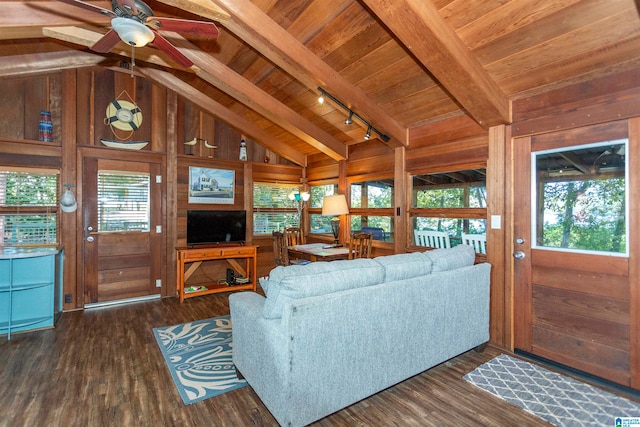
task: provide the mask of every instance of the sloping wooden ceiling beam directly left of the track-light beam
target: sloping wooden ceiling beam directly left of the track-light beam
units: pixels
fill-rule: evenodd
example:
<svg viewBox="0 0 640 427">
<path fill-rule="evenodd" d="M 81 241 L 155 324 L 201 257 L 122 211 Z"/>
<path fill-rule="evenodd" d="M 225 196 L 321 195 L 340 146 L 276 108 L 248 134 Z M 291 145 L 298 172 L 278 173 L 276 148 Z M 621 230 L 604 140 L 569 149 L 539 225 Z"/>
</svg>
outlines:
<svg viewBox="0 0 640 427">
<path fill-rule="evenodd" d="M 232 96 L 237 101 L 291 132 L 307 144 L 334 160 L 347 158 L 347 147 L 329 133 L 315 126 L 240 74 L 213 58 L 184 37 L 173 33 L 170 40 L 195 65 L 203 80 Z"/>
</svg>

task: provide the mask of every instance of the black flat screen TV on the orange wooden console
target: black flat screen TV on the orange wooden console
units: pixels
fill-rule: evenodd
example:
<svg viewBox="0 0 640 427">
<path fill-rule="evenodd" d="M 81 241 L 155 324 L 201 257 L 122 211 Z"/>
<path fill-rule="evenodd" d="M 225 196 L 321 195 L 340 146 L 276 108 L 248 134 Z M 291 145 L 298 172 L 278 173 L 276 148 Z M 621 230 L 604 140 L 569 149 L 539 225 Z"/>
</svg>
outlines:
<svg viewBox="0 0 640 427">
<path fill-rule="evenodd" d="M 187 211 L 187 245 L 244 243 L 247 211 Z"/>
</svg>

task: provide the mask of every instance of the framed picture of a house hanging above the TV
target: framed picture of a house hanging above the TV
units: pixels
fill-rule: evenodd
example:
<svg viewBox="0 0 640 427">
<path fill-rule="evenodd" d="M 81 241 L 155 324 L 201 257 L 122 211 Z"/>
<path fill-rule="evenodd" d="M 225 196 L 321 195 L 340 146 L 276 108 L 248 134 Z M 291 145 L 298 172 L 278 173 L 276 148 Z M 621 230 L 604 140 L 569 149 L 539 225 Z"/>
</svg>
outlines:
<svg viewBox="0 0 640 427">
<path fill-rule="evenodd" d="M 232 205 L 235 171 L 189 167 L 189 203 Z"/>
</svg>

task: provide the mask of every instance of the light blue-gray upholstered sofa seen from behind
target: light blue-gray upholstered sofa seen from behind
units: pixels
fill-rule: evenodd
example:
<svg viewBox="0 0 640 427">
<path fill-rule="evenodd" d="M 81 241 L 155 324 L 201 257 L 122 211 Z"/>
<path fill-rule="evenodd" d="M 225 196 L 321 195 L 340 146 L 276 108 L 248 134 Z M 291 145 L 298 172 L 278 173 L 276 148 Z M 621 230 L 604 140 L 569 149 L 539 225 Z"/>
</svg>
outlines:
<svg viewBox="0 0 640 427">
<path fill-rule="evenodd" d="M 469 246 L 276 267 L 229 296 L 233 362 L 302 426 L 489 340 L 487 263 Z"/>
</svg>

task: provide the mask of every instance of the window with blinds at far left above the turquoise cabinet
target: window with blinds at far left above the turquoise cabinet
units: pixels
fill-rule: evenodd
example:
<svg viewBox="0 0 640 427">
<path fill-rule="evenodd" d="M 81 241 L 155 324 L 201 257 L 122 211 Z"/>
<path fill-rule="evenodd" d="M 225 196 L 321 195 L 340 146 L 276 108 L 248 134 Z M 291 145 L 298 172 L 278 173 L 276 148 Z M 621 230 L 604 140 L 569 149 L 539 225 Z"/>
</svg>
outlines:
<svg viewBox="0 0 640 427">
<path fill-rule="evenodd" d="M 58 171 L 0 168 L 0 246 L 53 245 Z"/>
</svg>

